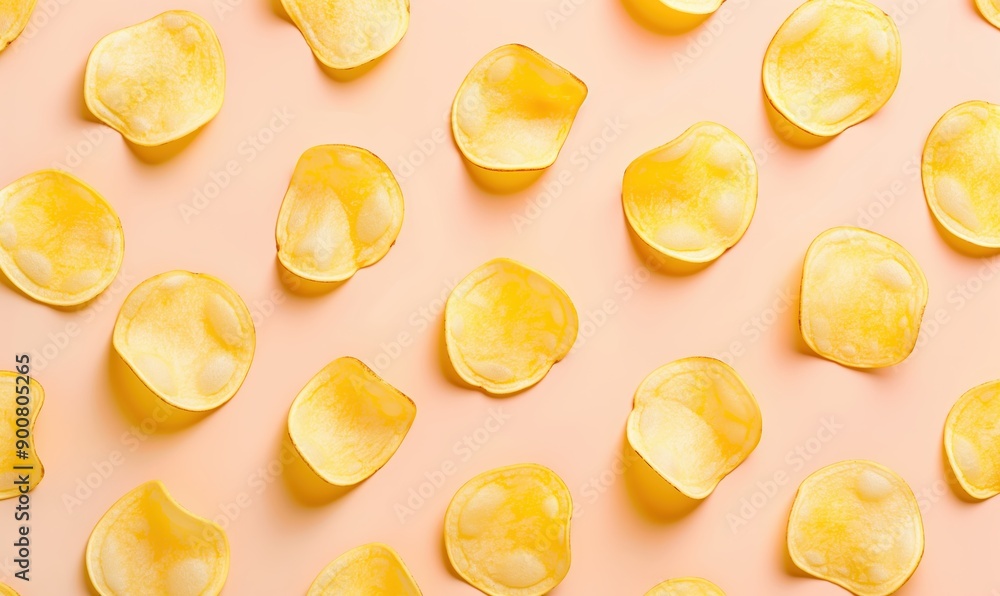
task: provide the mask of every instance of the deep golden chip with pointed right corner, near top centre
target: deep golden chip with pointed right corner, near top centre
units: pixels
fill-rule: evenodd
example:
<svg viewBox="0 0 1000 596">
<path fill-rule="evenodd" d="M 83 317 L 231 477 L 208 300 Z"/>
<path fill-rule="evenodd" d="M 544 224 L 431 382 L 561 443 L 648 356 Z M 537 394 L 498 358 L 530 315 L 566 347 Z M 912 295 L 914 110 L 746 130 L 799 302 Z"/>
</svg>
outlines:
<svg viewBox="0 0 1000 596">
<path fill-rule="evenodd" d="M 562 149 L 587 86 L 531 48 L 501 46 L 472 67 L 451 108 L 459 150 L 476 166 L 541 170 Z"/>
</svg>

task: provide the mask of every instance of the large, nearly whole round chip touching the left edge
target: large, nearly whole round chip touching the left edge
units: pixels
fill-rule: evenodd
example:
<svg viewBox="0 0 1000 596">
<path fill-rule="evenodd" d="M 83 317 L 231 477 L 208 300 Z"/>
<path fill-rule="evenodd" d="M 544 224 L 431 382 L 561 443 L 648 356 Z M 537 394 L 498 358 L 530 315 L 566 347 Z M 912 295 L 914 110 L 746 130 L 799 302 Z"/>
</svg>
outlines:
<svg viewBox="0 0 1000 596">
<path fill-rule="evenodd" d="M 82 180 L 42 170 L 0 190 L 0 270 L 35 300 L 83 304 L 111 284 L 124 256 L 118 214 Z"/>
</svg>

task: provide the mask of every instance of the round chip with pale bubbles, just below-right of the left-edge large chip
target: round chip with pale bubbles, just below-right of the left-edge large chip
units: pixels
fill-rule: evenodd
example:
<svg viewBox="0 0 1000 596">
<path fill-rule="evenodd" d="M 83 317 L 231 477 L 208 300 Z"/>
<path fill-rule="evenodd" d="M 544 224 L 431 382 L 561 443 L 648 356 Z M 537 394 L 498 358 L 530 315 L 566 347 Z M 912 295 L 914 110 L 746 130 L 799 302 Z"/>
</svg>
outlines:
<svg viewBox="0 0 1000 596">
<path fill-rule="evenodd" d="M 243 384 L 256 335 L 250 311 L 225 282 L 169 271 L 125 298 L 112 336 L 136 376 L 168 404 L 213 410 Z"/>
</svg>

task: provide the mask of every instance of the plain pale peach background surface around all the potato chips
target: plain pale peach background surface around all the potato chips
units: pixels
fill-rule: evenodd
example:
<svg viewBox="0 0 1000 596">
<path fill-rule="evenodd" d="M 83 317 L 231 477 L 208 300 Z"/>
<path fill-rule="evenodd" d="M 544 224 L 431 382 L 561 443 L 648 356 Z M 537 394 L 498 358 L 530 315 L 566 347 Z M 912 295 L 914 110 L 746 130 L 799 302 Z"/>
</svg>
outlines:
<svg viewBox="0 0 1000 596">
<path fill-rule="evenodd" d="M 448 501 L 481 471 L 534 461 L 565 479 L 578 506 L 573 565 L 556 594 L 642 594 L 683 575 L 736 595 L 840 594 L 788 568 L 785 519 L 808 473 L 870 458 L 899 472 L 924 508 L 926 554 L 900 594 L 996 594 L 1000 508 L 963 502 L 948 486 L 941 432 L 962 392 L 1000 376 L 1000 283 L 982 279 L 992 274 L 981 256 L 958 252 L 935 230 L 915 175 L 924 138 L 945 110 L 969 99 L 1000 101 L 1000 31 L 972 1 L 877 0 L 902 15 L 899 88 L 874 118 L 811 149 L 776 136 L 759 83 L 767 43 L 799 0 L 730 0 L 678 34 L 649 30 L 618 0 L 563 0 L 571 14 L 555 24 L 547 14 L 559 0 L 413 4 L 400 45 L 349 81 L 326 73 L 268 0 L 40 0 L 28 33 L 0 54 L 0 183 L 67 164 L 67 152 L 79 147 L 88 154 L 69 169 L 115 206 L 127 246 L 124 281 L 83 309 L 56 310 L 0 287 L 4 368 L 15 352 L 52 354 L 50 334 L 69 325 L 78 331 L 44 367 L 36 358 L 48 395 L 36 427 L 47 474 L 32 493 L 33 581 L 17 588 L 86 593 L 82 555 L 91 528 L 126 491 L 159 478 L 190 510 L 227 526 L 227 594 L 302 593 L 328 561 L 375 540 L 401 553 L 425 594 L 472 594 L 442 556 Z M 145 151 L 86 113 L 83 70 L 102 35 L 170 8 L 194 10 L 216 28 L 227 58 L 226 103 L 200 133 Z M 590 96 L 556 164 L 533 185 L 497 194 L 463 165 L 446 111 L 473 63 L 508 42 L 569 68 Z M 699 55 L 679 68 L 677 53 L 685 51 Z M 294 118 L 280 132 L 261 133 L 276 109 Z M 627 128 L 602 145 L 595 139 L 609 118 Z M 622 217 L 621 175 L 631 159 L 699 120 L 730 127 L 757 152 L 757 213 L 742 242 L 712 266 L 693 275 L 649 273 Z M 240 144 L 257 134 L 270 143 L 251 162 Z M 579 148 L 592 142 L 600 155 L 581 157 Z M 382 262 L 315 292 L 282 281 L 273 227 L 295 160 L 321 143 L 380 155 L 399 176 L 406 217 Z M 421 144 L 430 155 L 409 172 L 402 160 Z M 179 206 L 230 160 L 240 172 L 185 222 Z M 530 209 L 560 178 L 559 196 L 543 197 L 540 214 Z M 795 308 L 768 310 L 784 304 L 783 293 L 794 298 L 810 240 L 859 223 L 859 210 L 876 216 L 860 223 L 914 254 L 931 285 L 921 347 L 904 364 L 872 373 L 808 354 L 796 339 Z M 534 217 L 517 229 L 512 217 L 526 213 Z M 574 353 L 539 385 L 508 399 L 456 384 L 441 360 L 440 297 L 495 256 L 557 280 L 584 321 L 604 306 L 614 311 L 600 326 L 585 325 Z M 147 435 L 139 429 L 149 411 L 113 357 L 111 329 L 127 289 L 175 268 L 217 275 L 243 296 L 258 322 L 257 354 L 228 405 L 193 424 L 171 419 L 150 429 L 147 419 Z M 433 311 L 429 320 L 421 308 Z M 755 317 L 763 331 L 752 331 Z M 395 358 L 380 356 L 395 351 L 400 334 L 409 345 Z M 700 506 L 653 505 L 649 495 L 662 487 L 650 486 L 642 465 L 621 473 L 616 464 L 632 393 L 661 364 L 727 351 L 739 353 L 730 360 L 760 401 L 760 446 Z M 413 397 L 418 415 L 369 481 L 316 494 L 275 462 L 292 398 L 341 355 L 377 366 Z M 488 438 L 465 461 L 453 445 L 501 409 L 509 419 L 495 433 L 480 430 Z M 842 425 L 832 438 L 818 432 L 824 417 Z M 796 448 L 815 453 L 805 462 Z M 68 507 L 66 495 L 110 457 L 120 465 L 106 479 L 92 476 L 92 495 Z M 454 473 L 400 523 L 394 505 L 445 462 Z M 261 474 L 269 464 L 277 475 Z M 734 532 L 728 516 L 740 515 L 741 499 L 776 473 L 787 481 L 764 502 L 758 496 L 755 515 Z M 13 505 L 0 503 L 3 545 L 14 537 Z M 0 546 L 8 580 L 12 552 Z"/>
</svg>

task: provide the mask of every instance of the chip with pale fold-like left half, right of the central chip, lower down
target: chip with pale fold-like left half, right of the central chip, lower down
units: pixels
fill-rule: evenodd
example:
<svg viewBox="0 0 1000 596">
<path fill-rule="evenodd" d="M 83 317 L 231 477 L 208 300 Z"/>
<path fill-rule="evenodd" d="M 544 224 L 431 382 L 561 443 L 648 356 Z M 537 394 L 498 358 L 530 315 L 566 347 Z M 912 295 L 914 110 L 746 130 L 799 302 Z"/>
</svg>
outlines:
<svg viewBox="0 0 1000 596">
<path fill-rule="evenodd" d="M 629 444 L 681 493 L 704 499 L 760 442 L 757 400 L 728 364 L 683 358 L 635 391 Z"/>
</svg>

